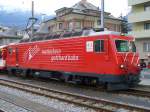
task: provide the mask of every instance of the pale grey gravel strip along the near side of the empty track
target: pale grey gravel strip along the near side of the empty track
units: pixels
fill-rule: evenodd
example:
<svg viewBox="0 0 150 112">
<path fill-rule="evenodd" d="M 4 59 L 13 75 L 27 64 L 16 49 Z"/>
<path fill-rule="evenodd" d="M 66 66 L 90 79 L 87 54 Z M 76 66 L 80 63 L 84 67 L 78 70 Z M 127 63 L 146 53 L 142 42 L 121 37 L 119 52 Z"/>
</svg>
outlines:
<svg viewBox="0 0 150 112">
<path fill-rule="evenodd" d="M 68 104 L 68 103 L 61 102 L 61 101 L 58 101 L 55 99 L 46 98 L 44 96 L 27 93 L 24 91 L 20 91 L 17 89 L 13 89 L 13 88 L 1 86 L 1 85 L 0 85 L 0 92 L 6 92 L 8 94 L 13 94 L 13 95 L 19 96 L 21 98 L 28 99 L 30 101 L 33 101 L 33 102 L 36 102 L 36 103 L 39 103 L 42 105 L 46 105 L 48 107 L 55 108 L 57 110 L 61 110 L 64 112 L 95 112 L 94 110 L 91 110 L 91 109 L 87 109 L 84 107 L 78 107 L 73 104 Z M 1 103 L 0 103 L 0 107 L 1 106 L 3 106 L 3 105 L 1 105 Z M 3 106 L 3 108 L 5 108 L 5 106 Z M 11 111 L 11 112 L 16 112 L 16 111 Z M 17 111 L 17 112 L 19 112 L 19 111 Z M 21 111 L 21 112 L 26 112 L 26 111 Z"/>
</svg>

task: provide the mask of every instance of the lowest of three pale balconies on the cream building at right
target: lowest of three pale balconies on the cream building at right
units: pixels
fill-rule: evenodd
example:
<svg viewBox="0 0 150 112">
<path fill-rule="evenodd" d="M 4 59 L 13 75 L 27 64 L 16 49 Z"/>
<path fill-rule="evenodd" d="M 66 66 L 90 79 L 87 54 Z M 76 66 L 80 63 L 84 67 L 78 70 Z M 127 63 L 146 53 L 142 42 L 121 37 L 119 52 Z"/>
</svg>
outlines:
<svg viewBox="0 0 150 112">
<path fill-rule="evenodd" d="M 150 30 L 132 31 L 129 35 L 133 35 L 136 39 L 150 38 Z"/>
</svg>

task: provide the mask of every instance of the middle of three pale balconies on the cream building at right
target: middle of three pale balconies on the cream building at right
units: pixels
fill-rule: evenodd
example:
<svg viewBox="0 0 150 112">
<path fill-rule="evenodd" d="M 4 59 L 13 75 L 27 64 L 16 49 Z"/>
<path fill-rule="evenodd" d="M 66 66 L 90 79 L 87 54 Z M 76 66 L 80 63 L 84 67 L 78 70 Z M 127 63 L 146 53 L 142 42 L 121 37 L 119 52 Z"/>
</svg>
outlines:
<svg viewBox="0 0 150 112">
<path fill-rule="evenodd" d="M 150 11 L 132 13 L 128 17 L 129 23 L 144 22 L 150 20 Z"/>
</svg>

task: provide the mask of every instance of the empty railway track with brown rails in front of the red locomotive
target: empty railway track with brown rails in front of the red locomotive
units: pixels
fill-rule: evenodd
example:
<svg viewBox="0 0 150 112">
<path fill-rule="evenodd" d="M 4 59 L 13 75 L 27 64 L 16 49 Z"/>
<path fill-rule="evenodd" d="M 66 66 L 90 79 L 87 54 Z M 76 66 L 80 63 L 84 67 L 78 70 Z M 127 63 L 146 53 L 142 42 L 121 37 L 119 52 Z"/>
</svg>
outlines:
<svg viewBox="0 0 150 112">
<path fill-rule="evenodd" d="M 119 109 L 129 110 L 131 112 L 150 111 L 150 108 L 137 107 L 135 105 L 123 104 L 123 103 L 112 102 L 104 99 L 96 99 L 96 98 L 91 98 L 83 95 L 81 96 L 78 94 L 66 93 L 62 91 L 52 90 L 45 87 L 35 86 L 35 85 L 16 82 L 16 81 L 1 79 L 0 85 L 19 89 L 22 91 L 30 92 L 32 94 L 37 94 L 52 99 L 57 99 L 67 103 L 72 103 L 81 107 L 87 107 L 100 112 L 116 112 Z"/>
</svg>

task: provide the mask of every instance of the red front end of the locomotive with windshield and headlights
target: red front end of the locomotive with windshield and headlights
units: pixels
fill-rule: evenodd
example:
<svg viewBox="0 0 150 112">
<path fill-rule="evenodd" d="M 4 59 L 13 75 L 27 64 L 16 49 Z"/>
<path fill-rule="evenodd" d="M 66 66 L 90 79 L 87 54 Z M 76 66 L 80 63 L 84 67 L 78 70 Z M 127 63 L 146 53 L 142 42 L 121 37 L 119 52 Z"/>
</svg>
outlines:
<svg viewBox="0 0 150 112">
<path fill-rule="evenodd" d="M 133 37 L 117 36 L 114 38 L 117 75 L 124 76 L 126 83 L 132 86 L 140 82 L 139 54 L 136 52 Z"/>
</svg>

